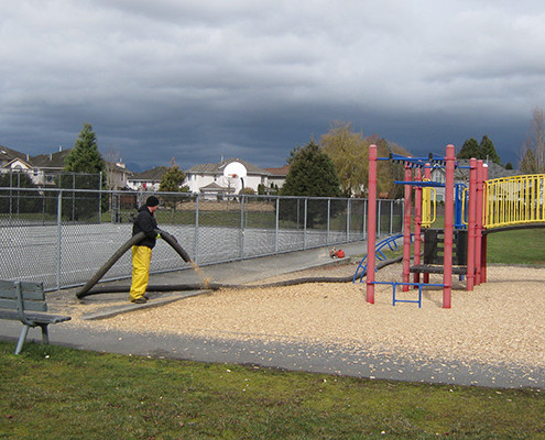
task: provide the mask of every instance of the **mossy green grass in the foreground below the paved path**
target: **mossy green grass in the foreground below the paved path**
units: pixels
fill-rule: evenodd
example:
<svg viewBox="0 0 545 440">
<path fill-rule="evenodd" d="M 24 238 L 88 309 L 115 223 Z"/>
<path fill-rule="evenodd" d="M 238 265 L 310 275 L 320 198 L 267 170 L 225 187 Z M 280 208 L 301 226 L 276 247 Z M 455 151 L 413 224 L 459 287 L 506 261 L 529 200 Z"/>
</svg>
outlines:
<svg viewBox="0 0 545 440">
<path fill-rule="evenodd" d="M 545 439 L 545 393 L 0 343 L 0 439 Z"/>
</svg>

